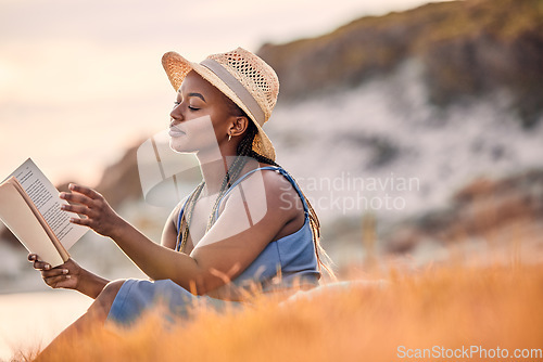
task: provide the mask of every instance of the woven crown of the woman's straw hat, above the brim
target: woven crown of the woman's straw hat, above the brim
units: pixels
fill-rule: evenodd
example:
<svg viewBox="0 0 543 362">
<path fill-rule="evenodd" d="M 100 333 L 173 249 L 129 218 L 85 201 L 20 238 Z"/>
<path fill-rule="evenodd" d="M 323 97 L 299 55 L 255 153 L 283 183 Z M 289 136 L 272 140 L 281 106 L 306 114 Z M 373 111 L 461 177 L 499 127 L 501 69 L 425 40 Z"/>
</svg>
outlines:
<svg viewBox="0 0 543 362">
<path fill-rule="evenodd" d="M 279 79 L 275 70 L 261 57 L 243 48 L 213 54 L 207 59 L 219 63 L 251 93 L 264 112 L 264 121 L 267 121 L 279 94 Z"/>
</svg>

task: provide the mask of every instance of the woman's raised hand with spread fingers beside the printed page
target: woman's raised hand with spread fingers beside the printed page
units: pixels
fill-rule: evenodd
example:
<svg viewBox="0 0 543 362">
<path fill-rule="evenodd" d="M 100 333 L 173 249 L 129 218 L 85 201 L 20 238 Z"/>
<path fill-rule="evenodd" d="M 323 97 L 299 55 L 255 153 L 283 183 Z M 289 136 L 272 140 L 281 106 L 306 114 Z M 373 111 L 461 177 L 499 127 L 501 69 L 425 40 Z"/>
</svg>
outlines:
<svg viewBox="0 0 543 362">
<path fill-rule="evenodd" d="M 105 198 L 92 189 L 70 184 L 72 193 L 61 193 L 61 198 L 73 205 L 63 205 L 62 209 L 83 215 L 84 218 L 73 218 L 71 222 L 89 227 L 104 236 L 112 236 L 122 223 L 121 217 L 111 208 Z"/>
</svg>

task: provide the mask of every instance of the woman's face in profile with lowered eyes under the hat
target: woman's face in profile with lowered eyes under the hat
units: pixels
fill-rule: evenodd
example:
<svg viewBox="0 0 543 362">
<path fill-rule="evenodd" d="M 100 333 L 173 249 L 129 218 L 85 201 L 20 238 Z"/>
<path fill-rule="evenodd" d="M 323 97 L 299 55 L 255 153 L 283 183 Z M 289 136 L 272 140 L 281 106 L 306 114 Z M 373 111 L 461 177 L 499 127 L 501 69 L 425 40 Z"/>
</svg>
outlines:
<svg viewBox="0 0 543 362">
<path fill-rule="evenodd" d="M 182 153 L 219 152 L 236 118 L 225 95 L 193 70 L 177 92 L 171 117 L 169 146 Z"/>
</svg>

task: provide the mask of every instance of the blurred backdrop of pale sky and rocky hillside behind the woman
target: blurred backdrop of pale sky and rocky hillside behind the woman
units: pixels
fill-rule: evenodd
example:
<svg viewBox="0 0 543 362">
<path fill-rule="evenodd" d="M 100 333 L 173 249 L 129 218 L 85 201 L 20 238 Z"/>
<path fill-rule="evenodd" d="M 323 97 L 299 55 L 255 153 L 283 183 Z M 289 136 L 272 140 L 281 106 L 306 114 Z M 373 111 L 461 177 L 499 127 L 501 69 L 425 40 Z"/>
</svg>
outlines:
<svg viewBox="0 0 543 362">
<path fill-rule="evenodd" d="M 201 61 L 239 46 L 279 76 L 265 129 L 317 209 L 340 275 L 452 255 L 541 261 L 541 0 L 0 0 L 0 178 L 31 157 L 60 189 L 97 188 L 159 241 L 169 209 L 143 199 L 136 153 L 169 120 L 161 56 Z M 3 225 L 0 238 L 9 351 L 25 319 L 58 308 L 33 326 L 47 340 L 90 301 L 51 297 Z M 71 254 L 109 279 L 143 276 L 92 233 Z"/>
</svg>

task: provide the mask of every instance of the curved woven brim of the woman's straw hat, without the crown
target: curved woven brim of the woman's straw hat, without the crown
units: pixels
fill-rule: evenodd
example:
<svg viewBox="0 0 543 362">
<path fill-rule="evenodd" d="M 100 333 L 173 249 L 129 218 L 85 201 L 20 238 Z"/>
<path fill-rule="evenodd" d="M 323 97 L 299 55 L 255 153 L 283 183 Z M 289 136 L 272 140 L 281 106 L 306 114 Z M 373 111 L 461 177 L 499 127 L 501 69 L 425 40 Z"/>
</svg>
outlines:
<svg viewBox="0 0 543 362">
<path fill-rule="evenodd" d="M 176 52 L 168 52 L 162 57 L 162 65 L 166 70 L 169 82 L 176 91 L 181 87 L 182 80 L 190 70 L 194 70 L 202 78 L 207 80 L 212 86 L 217 88 L 233 103 L 236 103 L 245 114 L 251 118 L 256 126 L 258 132 L 254 137 L 253 151 L 257 154 L 275 160 L 275 148 L 266 132 L 262 129 L 261 125 L 256 121 L 256 117 L 249 111 L 248 106 L 243 104 L 235 91 L 230 89 L 215 73 L 198 63 L 189 62 Z"/>
</svg>

